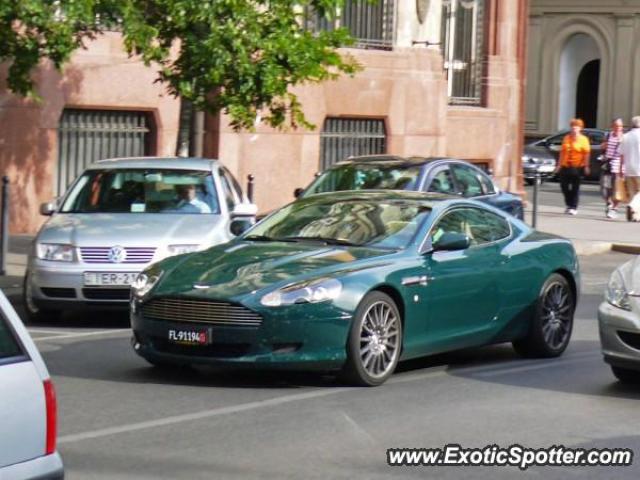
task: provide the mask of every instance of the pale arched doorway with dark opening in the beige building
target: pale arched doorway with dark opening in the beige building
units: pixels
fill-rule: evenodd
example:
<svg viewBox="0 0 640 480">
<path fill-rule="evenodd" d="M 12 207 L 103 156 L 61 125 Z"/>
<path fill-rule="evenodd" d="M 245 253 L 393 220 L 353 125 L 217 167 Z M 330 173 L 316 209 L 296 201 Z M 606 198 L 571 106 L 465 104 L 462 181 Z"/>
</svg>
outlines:
<svg viewBox="0 0 640 480">
<path fill-rule="evenodd" d="M 596 126 L 598 118 L 598 86 L 600 49 L 585 33 L 572 35 L 560 55 L 558 94 L 558 129 L 566 129 L 573 117 L 583 118 L 588 126 Z"/>
</svg>

